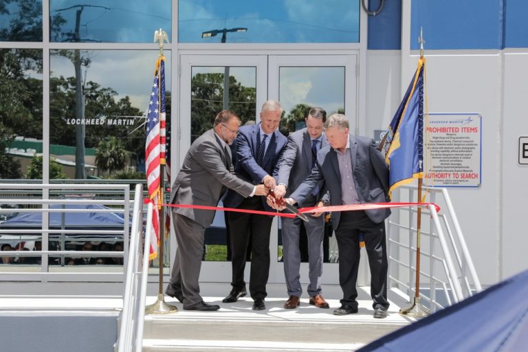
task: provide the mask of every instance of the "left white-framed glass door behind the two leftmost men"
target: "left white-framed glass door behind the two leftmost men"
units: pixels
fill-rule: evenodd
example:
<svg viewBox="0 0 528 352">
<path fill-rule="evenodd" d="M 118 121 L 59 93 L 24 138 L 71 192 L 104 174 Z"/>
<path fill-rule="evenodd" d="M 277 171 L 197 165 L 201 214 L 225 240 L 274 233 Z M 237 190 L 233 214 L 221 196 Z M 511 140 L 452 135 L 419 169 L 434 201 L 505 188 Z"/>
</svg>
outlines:
<svg viewBox="0 0 528 352">
<path fill-rule="evenodd" d="M 265 58 L 259 56 L 181 56 L 180 160 L 190 144 L 212 128 L 220 111 L 234 111 L 243 124 L 255 122 L 257 107 L 265 100 L 263 71 Z M 225 223 L 224 212 L 216 212 L 206 229 L 201 281 L 231 281 Z"/>
</svg>

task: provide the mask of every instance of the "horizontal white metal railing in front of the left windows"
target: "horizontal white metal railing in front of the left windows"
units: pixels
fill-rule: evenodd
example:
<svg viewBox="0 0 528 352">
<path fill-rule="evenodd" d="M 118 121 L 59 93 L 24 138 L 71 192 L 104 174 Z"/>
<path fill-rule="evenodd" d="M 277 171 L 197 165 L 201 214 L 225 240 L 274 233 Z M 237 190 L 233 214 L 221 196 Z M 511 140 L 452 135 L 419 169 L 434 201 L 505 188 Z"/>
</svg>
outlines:
<svg viewBox="0 0 528 352">
<path fill-rule="evenodd" d="M 76 192 L 77 195 L 86 195 L 89 194 L 91 198 L 95 197 L 95 194 L 100 192 L 119 192 L 120 199 L 86 199 L 84 197 L 75 197 L 72 199 L 67 195 L 68 198 L 53 198 L 50 199 L 50 191 L 54 192 L 63 192 L 69 190 Z M 37 192 L 35 198 L 22 197 L 27 192 Z M 6 196 L 7 193 L 10 193 L 9 196 Z M 3 228 L 0 229 L 0 235 L 2 234 L 14 234 L 17 235 L 16 238 L 19 238 L 20 241 L 25 239 L 25 236 L 32 236 L 34 234 L 39 234 L 42 236 L 42 250 L 33 250 L 33 251 L 3 251 L 0 253 L 2 256 L 19 256 L 19 257 L 41 257 L 41 271 L 30 273 L 32 277 L 36 274 L 39 274 L 41 281 L 47 281 L 47 277 L 56 275 L 49 271 L 49 259 L 54 256 L 75 256 L 75 257 L 86 257 L 86 256 L 100 256 L 100 257 L 123 257 L 123 263 L 126 265 L 128 260 L 129 252 L 129 219 L 130 219 L 130 186 L 129 184 L 39 184 L 39 183 L 0 183 L 0 195 L 3 197 L 0 198 L 0 204 L 17 204 L 22 206 L 36 205 L 38 208 L 0 208 L 0 213 L 10 213 L 10 212 L 40 212 L 42 214 L 42 223 L 41 227 L 37 229 L 13 229 L 13 228 Z M 39 198 L 41 197 L 41 198 Z M 142 199 L 142 197 L 140 197 Z M 79 209 L 50 209 L 50 204 L 102 204 L 110 206 L 119 206 L 119 208 L 113 209 L 89 209 L 89 210 L 79 210 Z M 48 223 L 50 212 L 61 212 L 63 214 L 68 212 L 115 212 L 122 213 L 123 219 L 123 229 L 122 230 L 90 230 L 89 227 L 77 230 L 66 230 L 65 228 L 53 228 L 50 229 L 50 224 Z M 63 226 L 64 227 L 64 226 Z M 85 236 L 68 236 L 70 234 L 85 234 Z M 115 236 L 122 236 L 123 241 L 123 250 L 122 251 L 71 251 L 71 250 L 59 250 L 52 251 L 48 248 L 48 241 L 80 241 L 85 239 L 86 241 L 91 241 L 94 237 L 90 237 L 90 234 L 105 235 L 104 239 L 108 239 L 109 236 L 111 239 L 115 239 Z M 60 236 L 59 236 L 60 235 Z M 101 236 L 98 236 L 96 239 L 102 239 Z M 31 238 L 30 240 L 33 240 Z M 15 253 L 14 253 L 15 252 Z M 18 266 L 18 265 L 17 265 Z M 11 267 L 11 265 L 5 266 Z M 13 267 L 14 268 L 14 267 Z M 12 274 L 17 274 L 15 278 L 12 277 Z M 78 275 L 78 272 L 68 273 L 69 275 Z M 85 273 L 84 273 L 85 274 Z M 98 273 L 100 274 L 100 273 Z M 120 277 L 121 281 L 123 275 L 122 273 L 111 273 L 115 278 Z M 18 271 L 8 272 L 2 271 L 0 276 L 10 276 L 9 280 L 13 281 L 25 281 L 28 279 L 28 275 L 23 275 Z"/>
</svg>

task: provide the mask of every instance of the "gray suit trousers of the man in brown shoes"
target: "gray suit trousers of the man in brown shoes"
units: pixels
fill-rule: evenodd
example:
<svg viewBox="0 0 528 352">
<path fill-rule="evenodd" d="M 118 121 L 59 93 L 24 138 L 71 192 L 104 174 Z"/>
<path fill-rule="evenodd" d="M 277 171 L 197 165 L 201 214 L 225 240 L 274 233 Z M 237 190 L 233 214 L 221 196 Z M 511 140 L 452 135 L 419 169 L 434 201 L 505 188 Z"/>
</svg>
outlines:
<svg viewBox="0 0 528 352">
<path fill-rule="evenodd" d="M 313 196 L 312 196 L 313 197 Z M 313 199 L 315 201 L 315 197 Z M 313 206 L 314 201 L 305 202 Z M 311 217 L 308 214 L 308 222 L 304 222 L 308 242 L 308 285 L 309 296 L 316 296 L 321 293 L 320 278 L 322 275 L 322 239 L 325 235 L 325 216 Z M 300 225 L 303 220 L 298 217 L 289 219 L 282 218 L 283 236 L 283 261 L 284 277 L 288 296 L 300 297 L 303 294 L 303 288 L 300 285 L 300 248 L 299 235 Z"/>
</svg>

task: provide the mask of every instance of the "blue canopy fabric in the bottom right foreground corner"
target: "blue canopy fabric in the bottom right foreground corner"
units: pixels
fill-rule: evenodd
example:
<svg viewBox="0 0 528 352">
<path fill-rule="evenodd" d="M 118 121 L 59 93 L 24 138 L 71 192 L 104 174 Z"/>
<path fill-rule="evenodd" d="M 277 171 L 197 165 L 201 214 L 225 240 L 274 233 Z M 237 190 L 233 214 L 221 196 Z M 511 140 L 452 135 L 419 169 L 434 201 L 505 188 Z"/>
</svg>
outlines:
<svg viewBox="0 0 528 352">
<path fill-rule="evenodd" d="M 394 331 L 358 352 L 527 351 L 528 271 Z"/>
</svg>

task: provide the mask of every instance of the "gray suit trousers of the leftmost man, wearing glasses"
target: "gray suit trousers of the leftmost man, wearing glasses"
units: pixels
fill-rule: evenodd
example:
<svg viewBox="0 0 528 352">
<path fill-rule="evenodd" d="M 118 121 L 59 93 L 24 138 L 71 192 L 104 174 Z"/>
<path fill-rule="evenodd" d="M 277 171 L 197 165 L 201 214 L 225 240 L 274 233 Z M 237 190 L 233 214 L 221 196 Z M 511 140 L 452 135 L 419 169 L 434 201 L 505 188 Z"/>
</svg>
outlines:
<svg viewBox="0 0 528 352">
<path fill-rule="evenodd" d="M 170 285 L 184 294 L 184 309 L 193 307 L 203 300 L 198 284 L 203 241 L 206 229 L 188 217 L 173 212 L 173 226 L 178 248 L 170 273 Z"/>
</svg>

